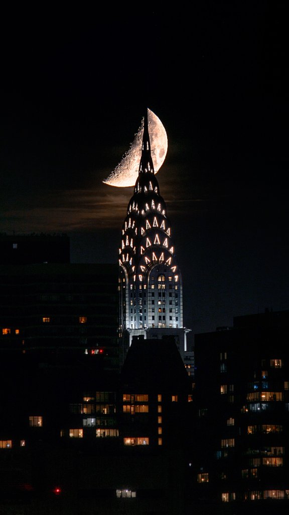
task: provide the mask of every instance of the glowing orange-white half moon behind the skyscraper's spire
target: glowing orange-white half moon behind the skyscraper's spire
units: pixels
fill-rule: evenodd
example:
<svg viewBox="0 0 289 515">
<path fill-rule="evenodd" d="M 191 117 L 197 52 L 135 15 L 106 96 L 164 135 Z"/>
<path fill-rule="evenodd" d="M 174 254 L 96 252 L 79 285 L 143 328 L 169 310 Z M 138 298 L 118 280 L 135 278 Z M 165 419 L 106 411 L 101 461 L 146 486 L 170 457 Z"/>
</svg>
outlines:
<svg viewBox="0 0 289 515">
<path fill-rule="evenodd" d="M 148 122 L 151 140 L 151 155 L 154 164 L 155 174 L 158 172 L 168 150 L 168 138 L 164 125 L 160 119 L 150 109 L 148 109 Z M 114 171 L 104 179 L 104 184 L 110 186 L 126 187 L 134 186 L 138 176 L 138 167 L 141 157 L 141 142 L 143 134 L 143 119 L 141 125 L 135 134 L 134 141 L 130 148 L 125 152 L 120 163 L 115 167 Z"/>
</svg>

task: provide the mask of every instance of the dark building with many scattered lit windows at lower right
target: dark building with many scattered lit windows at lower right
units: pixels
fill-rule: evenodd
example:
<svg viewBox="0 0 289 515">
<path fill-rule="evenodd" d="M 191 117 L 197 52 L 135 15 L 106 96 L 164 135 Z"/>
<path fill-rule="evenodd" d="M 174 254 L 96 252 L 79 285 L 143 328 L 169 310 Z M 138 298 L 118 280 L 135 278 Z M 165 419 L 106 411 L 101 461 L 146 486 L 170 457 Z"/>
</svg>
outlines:
<svg viewBox="0 0 289 515">
<path fill-rule="evenodd" d="M 195 336 L 198 512 L 288 510 L 288 337 L 288 311 Z"/>
</svg>

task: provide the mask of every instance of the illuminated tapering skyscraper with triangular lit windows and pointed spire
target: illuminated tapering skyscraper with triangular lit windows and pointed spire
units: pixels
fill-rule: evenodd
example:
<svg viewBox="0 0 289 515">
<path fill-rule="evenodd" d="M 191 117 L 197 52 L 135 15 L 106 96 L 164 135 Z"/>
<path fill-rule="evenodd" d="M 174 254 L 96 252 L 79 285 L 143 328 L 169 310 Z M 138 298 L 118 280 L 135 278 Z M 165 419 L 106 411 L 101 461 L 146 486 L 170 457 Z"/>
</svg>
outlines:
<svg viewBox="0 0 289 515">
<path fill-rule="evenodd" d="M 120 325 L 124 349 L 132 336 L 175 335 L 182 357 L 183 286 L 172 227 L 154 173 L 146 113 L 134 193 L 122 226 L 119 248 Z"/>
</svg>

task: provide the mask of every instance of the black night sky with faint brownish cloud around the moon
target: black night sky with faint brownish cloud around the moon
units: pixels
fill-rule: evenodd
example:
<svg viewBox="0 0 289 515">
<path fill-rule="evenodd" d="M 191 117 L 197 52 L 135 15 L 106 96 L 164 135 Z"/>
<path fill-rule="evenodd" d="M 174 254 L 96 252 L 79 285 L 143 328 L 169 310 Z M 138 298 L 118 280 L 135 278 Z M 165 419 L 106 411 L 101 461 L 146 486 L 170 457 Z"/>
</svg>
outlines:
<svg viewBox="0 0 289 515">
<path fill-rule="evenodd" d="M 288 309 L 287 18 L 270 9 L 7 15 L 0 231 L 64 232 L 73 261 L 116 262 L 133 188 L 102 180 L 148 106 L 168 134 L 157 178 L 187 327 Z"/>
</svg>

